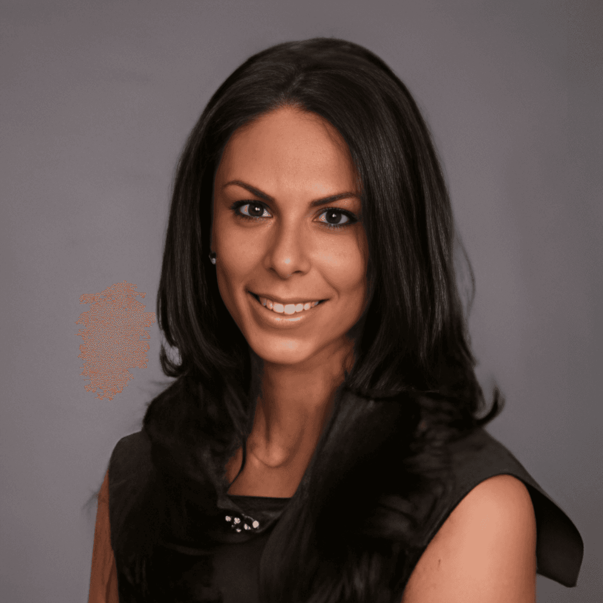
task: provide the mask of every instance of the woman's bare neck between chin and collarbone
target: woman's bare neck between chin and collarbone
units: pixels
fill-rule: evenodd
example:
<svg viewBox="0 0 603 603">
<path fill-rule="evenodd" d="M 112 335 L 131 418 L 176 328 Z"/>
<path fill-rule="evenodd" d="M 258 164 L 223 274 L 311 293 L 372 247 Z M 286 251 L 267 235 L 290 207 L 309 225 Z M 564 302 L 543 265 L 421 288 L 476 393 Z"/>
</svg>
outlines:
<svg viewBox="0 0 603 603">
<path fill-rule="evenodd" d="M 332 411 L 344 369 L 350 370 L 352 363 L 349 341 L 302 365 L 265 362 L 248 453 L 270 469 L 305 467 Z"/>
</svg>

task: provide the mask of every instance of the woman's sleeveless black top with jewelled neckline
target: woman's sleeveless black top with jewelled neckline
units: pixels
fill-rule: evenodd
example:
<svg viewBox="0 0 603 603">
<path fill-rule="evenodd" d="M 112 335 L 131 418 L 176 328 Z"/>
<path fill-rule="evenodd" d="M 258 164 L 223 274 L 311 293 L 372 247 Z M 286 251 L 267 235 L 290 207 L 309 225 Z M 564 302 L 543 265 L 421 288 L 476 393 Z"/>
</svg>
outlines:
<svg viewBox="0 0 603 603">
<path fill-rule="evenodd" d="M 476 485 L 500 474 L 515 476 L 528 488 L 537 524 L 537 572 L 564 586 L 575 586 L 582 562 L 582 538 L 569 517 L 507 448 L 484 429 L 478 429 L 470 437 L 451 444 L 450 455 L 455 485 L 437 500 L 429 525 L 421 531 L 420 546 L 400 568 L 393 601 L 401 601 L 422 552 L 456 505 Z M 112 546 L 128 501 L 144 484 L 151 467 L 150 442 L 144 432 L 128 435 L 116 444 L 109 463 Z M 306 475 L 302 483 L 305 479 Z M 182 569 L 182 583 L 190 593 L 187 603 L 257 603 L 260 558 L 290 500 L 225 495 L 218 501 L 224 519 L 215 538 L 219 545 L 211 551 L 201 551 L 165 543 L 166 564 L 174 564 L 178 571 Z"/>
</svg>

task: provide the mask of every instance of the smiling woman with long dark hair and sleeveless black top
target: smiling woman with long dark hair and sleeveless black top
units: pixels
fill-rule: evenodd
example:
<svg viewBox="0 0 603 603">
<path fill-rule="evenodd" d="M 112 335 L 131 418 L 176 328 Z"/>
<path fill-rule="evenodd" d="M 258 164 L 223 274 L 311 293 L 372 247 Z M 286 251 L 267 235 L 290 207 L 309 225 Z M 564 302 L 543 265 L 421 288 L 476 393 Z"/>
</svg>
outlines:
<svg viewBox="0 0 603 603">
<path fill-rule="evenodd" d="M 428 128 L 361 46 L 247 60 L 178 165 L 157 295 L 176 377 L 119 441 L 90 601 L 534 601 L 572 522 L 476 418 Z M 119 591 L 119 595 L 118 595 Z"/>
</svg>

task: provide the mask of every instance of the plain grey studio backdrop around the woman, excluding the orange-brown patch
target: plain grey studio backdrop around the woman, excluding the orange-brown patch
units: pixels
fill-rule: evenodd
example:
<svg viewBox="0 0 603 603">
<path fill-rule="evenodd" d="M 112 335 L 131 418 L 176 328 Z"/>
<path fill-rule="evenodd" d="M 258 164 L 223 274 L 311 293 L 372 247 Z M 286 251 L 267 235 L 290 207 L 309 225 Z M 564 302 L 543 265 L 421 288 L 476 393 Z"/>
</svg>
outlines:
<svg viewBox="0 0 603 603">
<path fill-rule="evenodd" d="M 432 128 L 475 270 L 478 374 L 507 397 L 488 431 L 584 538 L 578 586 L 539 577 L 537 600 L 600 600 L 601 6 L 3 0 L 2 601 L 86 601 L 83 505 L 166 382 L 154 323 L 121 394 L 84 390 L 80 295 L 127 280 L 155 311 L 204 104 L 252 53 L 319 35 L 384 58 Z"/>
</svg>

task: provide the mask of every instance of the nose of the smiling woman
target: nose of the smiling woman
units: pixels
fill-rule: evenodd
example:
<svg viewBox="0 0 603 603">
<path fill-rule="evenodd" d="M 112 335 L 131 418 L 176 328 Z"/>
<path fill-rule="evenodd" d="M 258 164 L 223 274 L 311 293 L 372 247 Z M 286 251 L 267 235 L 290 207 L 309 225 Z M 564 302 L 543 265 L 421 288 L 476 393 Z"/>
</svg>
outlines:
<svg viewBox="0 0 603 603">
<path fill-rule="evenodd" d="M 292 274 L 306 274 L 311 261 L 305 241 L 308 237 L 303 235 L 299 224 L 279 224 L 274 229 L 274 239 L 265 257 L 268 270 L 281 279 L 288 279 Z"/>
</svg>

